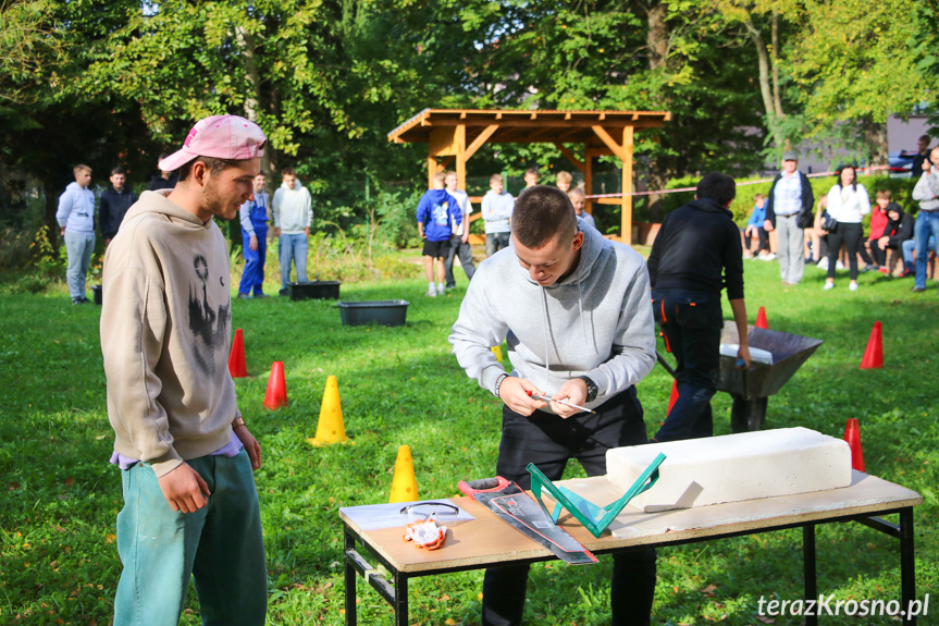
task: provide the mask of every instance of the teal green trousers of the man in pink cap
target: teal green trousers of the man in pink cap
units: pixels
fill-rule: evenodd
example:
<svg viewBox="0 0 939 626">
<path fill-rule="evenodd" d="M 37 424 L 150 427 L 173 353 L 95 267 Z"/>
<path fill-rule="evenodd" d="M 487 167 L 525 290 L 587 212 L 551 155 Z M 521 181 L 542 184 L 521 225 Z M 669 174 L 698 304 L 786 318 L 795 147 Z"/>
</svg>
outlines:
<svg viewBox="0 0 939 626">
<path fill-rule="evenodd" d="M 211 492 L 196 513 L 170 508 L 148 464 L 121 472 L 118 552 L 124 570 L 114 626 L 176 626 L 193 575 L 202 624 L 261 626 L 268 605 L 264 542 L 248 454 L 187 463 Z"/>
</svg>

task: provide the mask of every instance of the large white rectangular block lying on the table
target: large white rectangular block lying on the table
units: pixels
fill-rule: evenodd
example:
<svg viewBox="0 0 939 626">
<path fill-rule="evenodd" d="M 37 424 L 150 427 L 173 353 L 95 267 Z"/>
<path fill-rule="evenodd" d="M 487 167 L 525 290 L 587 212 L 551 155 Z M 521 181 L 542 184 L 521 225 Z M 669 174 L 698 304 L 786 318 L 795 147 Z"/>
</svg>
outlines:
<svg viewBox="0 0 939 626">
<path fill-rule="evenodd" d="M 802 427 L 608 450 L 607 479 L 627 491 L 659 452 L 658 482 L 630 502 L 647 513 L 851 484 L 848 443 Z"/>
</svg>

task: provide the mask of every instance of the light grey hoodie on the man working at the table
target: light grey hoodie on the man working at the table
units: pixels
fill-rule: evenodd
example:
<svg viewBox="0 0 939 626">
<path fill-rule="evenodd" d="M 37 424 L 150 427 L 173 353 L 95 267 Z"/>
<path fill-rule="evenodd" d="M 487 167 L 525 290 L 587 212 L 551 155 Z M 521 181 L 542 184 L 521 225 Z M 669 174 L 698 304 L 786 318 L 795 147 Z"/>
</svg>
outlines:
<svg viewBox="0 0 939 626">
<path fill-rule="evenodd" d="M 460 367 L 483 389 L 495 393 L 505 372 L 491 346 L 506 337 L 511 376 L 547 395 L 589 376 L 600 389 L 590 408 L 652 371 L 655 327 L 645 262 L 581 220 L 578 230 L 584 243 L 576 270 L 547 287 L 531 280 L 515 247 L 477 269 L 449 342 Z M 549 405 L 541 410 L 551 413 Z"/>
</svg>

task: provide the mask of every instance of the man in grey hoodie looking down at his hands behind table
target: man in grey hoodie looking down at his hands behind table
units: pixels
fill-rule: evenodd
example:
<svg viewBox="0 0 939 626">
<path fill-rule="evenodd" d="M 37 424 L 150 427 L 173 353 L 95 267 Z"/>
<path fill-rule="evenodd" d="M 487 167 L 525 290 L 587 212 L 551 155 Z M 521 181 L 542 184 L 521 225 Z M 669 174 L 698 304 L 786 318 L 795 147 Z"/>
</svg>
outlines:
<svg viewBox="0 0 939 626">
<path fill-rule="evenodd" d="M 645 263 L 544 185 L 518 197 L 511 237 L 477 270 L 449 336 L 460 367 L 505 403 L 496 472 L 522 489 L 531 487 L 529 463 L 551 480 L 569 458 L 604 475 L 607 450 L 647 440 L 634 386 L 655 365 Z M 511 373 L 490 349 L 506 337 Z M 528 565 L 486 570 L 484 625 L 521 623 L 527 578 Z M 648 624 L 654 591 L 654 550 L 615 555 L 610 623 Z"/>
</svg>

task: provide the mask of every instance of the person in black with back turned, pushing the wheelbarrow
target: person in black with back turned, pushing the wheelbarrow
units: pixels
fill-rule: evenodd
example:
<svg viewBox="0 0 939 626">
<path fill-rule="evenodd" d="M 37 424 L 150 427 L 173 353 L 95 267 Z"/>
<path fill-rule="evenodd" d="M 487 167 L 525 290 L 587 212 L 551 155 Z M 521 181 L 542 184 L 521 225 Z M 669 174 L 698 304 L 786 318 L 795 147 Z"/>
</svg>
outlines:
<svg viewBox="0 0 939 626">
<path fill-rule="evenodd" d="M 711 398 L 717 392 L 720 292 L 733 311 L 740 335 L 738 357 L 750 367 L 746 305 L 743 300 L 743 248 L 729 210 L 737 184 L 712 172 L 697 183 L 693 202 L 669 213 L 652 245 L 648 278 L 652 306 L 666 345 L 678 361 L 678 401 L 654 441 L 711 437 Z"/>
</svg>

